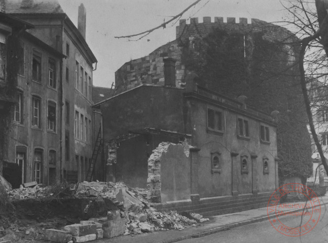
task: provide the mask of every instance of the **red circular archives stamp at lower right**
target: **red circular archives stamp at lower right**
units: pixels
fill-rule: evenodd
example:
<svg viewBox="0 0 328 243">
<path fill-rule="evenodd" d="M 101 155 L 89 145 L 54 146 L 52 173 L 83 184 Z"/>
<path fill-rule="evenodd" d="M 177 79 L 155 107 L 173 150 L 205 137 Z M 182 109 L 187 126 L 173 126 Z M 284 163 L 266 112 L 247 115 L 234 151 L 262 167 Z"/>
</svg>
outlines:
<svg viewBox="0 0 328 243">
<path fill-rule="evenodd" d="M 288 193 L 304 195 L 305 200 L 280 204 L 280 198 Z M 311 188 L 299 183 L 289 183 L 280 186 L 272 193 L 268 202 L 267 213 L 271 225 L 279 233 L 298 237 L 309 233 L 317 225 L 320 219 L 321 206 L 319 198 Z"/>
</svg>

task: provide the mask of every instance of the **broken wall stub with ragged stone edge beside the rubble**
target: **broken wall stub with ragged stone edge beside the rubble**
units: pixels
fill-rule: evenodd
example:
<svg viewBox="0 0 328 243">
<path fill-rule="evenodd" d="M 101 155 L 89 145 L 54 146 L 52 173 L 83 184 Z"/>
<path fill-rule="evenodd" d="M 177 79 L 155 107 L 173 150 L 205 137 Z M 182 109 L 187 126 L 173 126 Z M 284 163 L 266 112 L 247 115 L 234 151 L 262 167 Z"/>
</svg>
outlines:
<svg viewBox="0 0 328 243">
<path fill-rule="evenodd" d="M 190 199 L 190 157 L 186 146 L 160 143 L 148 159 L 147 188 L 152 201 Z"/>
</svg>

